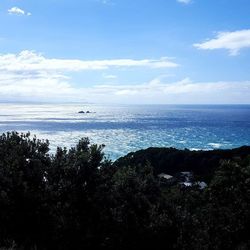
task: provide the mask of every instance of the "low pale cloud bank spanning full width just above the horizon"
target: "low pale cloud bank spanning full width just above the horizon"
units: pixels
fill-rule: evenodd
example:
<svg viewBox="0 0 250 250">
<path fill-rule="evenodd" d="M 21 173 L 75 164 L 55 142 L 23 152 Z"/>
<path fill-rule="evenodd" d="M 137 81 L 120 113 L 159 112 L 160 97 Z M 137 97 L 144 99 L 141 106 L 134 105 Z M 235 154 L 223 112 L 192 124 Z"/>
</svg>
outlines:
<svg viewBox="0 0 250 250">
<path fill-rule="evenodd" d="M 186 78 L 162 82 L 161 78 L 135 84 L 73 87 L 71 79 L 56 74 L 0 76 L 2 101 L 92 102 L 129 104 L 249 103 L 250 81 L 193 82 Z"/>
</svg>

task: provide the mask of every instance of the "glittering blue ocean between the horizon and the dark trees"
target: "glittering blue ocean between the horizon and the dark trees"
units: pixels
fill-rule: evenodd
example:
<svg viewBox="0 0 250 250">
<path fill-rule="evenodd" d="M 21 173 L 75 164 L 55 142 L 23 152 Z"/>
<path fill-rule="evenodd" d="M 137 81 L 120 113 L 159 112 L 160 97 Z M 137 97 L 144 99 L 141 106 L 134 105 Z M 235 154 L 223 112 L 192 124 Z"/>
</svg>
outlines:
<svg viewBox="0 0 250 250">
<path fill-rule="evenodd" d="M 226 149 L 250 145 L 250 105 L 0 104 L 0 133 L 13 130 L 49 139 L 51 152 L 89 137 L 112 160 L 148 147 Z"/>
</svg>

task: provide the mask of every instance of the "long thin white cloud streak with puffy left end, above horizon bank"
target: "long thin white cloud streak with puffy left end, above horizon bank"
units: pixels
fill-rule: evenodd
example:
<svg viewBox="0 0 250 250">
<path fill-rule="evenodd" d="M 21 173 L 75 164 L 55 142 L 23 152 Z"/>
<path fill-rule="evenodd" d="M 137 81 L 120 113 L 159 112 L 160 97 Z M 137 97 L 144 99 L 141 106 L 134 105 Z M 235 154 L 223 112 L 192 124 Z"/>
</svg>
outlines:
<svg viewBox="0 0 250 250">
<path fill-rule="evenodd" d="M 0 70 L 6 71 L 84 71 L 105 70 L 112 67 L 145 67 L 145 68 L 173 68 L 178 65 L 167 58 L 153 59 L 115 59 L 115 60 L 77 60 L 77 59 L 49 59 L 33 51 L 22 51 L 19 54 L 0 55 Z"/>
</svg>

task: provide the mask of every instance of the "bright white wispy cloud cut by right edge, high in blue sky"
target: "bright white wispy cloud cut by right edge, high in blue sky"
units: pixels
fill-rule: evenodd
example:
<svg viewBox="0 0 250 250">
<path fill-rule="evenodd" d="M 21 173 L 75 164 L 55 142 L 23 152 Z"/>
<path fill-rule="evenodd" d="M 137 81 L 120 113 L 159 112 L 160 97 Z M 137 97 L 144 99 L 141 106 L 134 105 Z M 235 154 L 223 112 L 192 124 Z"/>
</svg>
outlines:
<svg viewBox="0 0 250 250">
<path fill-rule="evenodd" d="M 250 48 L 250 29 L 219 32 L 214 39 L 196 43 L 194 46 L 204 50 L 226 49 L 231 56 L 236 56 L 241 49 Z"/>
</svg>

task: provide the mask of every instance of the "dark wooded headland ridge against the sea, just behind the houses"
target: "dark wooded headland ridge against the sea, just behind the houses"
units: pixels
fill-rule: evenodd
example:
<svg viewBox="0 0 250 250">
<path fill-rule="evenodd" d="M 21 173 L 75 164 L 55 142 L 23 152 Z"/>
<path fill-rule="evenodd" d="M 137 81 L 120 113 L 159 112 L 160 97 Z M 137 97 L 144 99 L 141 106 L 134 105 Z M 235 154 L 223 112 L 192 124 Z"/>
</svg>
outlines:
<svg viewBox="0 0 250 250">
<path fill-rule="evenodd" d="M 250 147 L 243 146 L 227 150 L 190 151 L 175 148 L 148 148 L 131 152 L 119 158 L 114 164 L 118 167 L 150 164 L 154 173 L 174 175 L 178 172 L 191 171 L 200 180 L 210 182 L 222 160 L 235 160 L 250 155 Z"/>
</svg>

